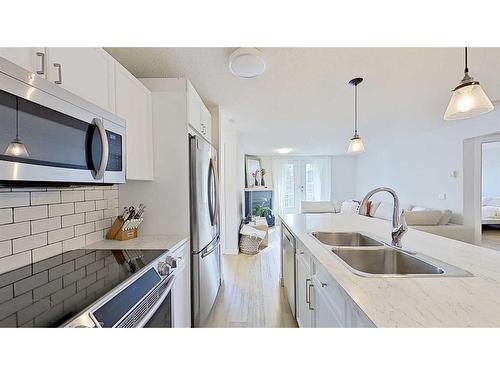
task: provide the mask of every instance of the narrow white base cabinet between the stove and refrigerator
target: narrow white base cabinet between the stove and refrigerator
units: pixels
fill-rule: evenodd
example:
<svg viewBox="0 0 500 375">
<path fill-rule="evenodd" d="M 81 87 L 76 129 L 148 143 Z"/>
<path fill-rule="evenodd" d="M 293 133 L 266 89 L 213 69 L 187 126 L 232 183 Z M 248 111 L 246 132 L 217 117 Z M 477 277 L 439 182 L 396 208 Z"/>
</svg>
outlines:
<svg viewBox="0 0 500 375">
<path fill-rule="evenodd" d="M 183 254 L 178 256 L 178 269 L 173 286 L 173 326 L 174 328 L 191 327 L 191 274 L 189 244 L 183 247 Z"/>
</svg>

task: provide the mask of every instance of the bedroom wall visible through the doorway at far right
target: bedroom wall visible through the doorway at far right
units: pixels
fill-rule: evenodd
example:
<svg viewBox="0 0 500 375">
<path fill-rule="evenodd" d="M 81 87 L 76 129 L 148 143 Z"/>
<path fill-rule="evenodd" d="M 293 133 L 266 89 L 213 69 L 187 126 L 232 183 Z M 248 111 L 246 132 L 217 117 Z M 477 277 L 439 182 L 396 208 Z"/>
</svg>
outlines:
<svg viewBox="0 0 500 375">
<path fill-rule="evenodd" d="M 482 196 L 500 197 L 500 143 L 483 144 Z"/>
</svg>

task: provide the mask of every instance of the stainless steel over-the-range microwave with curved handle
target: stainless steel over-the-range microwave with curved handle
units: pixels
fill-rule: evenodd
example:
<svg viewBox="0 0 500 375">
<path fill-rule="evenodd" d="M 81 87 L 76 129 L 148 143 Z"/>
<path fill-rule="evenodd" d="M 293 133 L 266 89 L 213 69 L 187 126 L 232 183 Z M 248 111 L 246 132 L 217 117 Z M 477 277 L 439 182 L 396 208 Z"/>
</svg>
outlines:
<svg viewBox="0 0 500 375">
<path fill-rule="evenodd" d="M 0 58 L 0 185 L 124 183 L 125 125 Z"/>
</svg>

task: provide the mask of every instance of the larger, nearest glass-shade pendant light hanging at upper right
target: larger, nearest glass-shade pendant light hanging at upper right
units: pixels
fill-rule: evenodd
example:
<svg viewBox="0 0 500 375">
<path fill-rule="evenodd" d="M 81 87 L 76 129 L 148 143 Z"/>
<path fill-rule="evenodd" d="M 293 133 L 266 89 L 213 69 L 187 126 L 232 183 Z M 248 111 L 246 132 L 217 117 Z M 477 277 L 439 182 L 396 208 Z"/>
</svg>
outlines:
<svg viewBox="0 0 500 375">
<path fill-rule="evenodd" d="M 465 47 L 465 75 L 460 84 L 453 89 L 450 103 L 444 114 L 445 120 L 461 120 L 493 110 L 490 98 L 478 81 L 469 76 L 467 47 Z"/>
</svg>

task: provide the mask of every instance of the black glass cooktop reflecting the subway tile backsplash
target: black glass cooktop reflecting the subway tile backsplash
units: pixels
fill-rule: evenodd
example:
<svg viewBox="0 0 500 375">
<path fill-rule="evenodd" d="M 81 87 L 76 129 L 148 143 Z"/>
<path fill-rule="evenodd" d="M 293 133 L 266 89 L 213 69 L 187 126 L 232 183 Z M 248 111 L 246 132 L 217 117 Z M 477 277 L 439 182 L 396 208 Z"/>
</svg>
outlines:
<svg viewBox="0 0 500 375">
<path fill-rule="evenodd" d="M 0 327 L 58 327 L 166 250 L 74 250 L 0 274 Z"/>
</svg>

